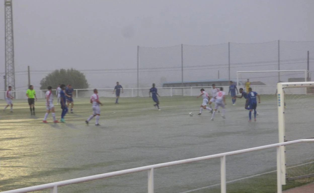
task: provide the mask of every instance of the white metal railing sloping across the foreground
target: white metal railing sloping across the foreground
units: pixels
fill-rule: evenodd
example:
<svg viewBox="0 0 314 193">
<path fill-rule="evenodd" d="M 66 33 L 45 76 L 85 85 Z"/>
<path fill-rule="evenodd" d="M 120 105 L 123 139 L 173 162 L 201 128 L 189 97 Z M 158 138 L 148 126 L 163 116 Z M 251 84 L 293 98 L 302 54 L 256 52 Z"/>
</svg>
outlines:
<svg viewBox="0 0 314 193">
<path fill-rule="evenodd" d="M 53 182 L 49 184 L 35 185 L 35 186 L 20 188 L 16 190 L 8 190 L 2 193 L 26 193 L 26 192 L 33 192 L 33 191 L 44 190 L 44 189 L 51 189 L 51 193 L 57 193 L 58 186 L 71 185 L 71 184 L 77 184 L 77 183 L 87 182 L 91 180 L 110 178 L 110 177 L 114 177 L 118 175 L 131 174 L 131 173 L 136 173 L 140 171 L 148 171 L 148 193 L 154 193 L 154 169 L 169 167 L 173 165 L 187 164 L 187 163 L 203 161 L 203 160 L 210 160 L 214 158 L 220 158 L 221 193 L 226 193 L 226 156 L 243 154 L 243 153 L 258 151 L 258 150 L 265 150 L 265 149 L 275 148 L 275 147 L 277 148 L 277 193 L 282 193 L 282 181 L 281 181 L 282 168 L 280 164 L 281 163 L 280 148 L 283 147 L 284 145 L 291 145 L 291 144 L 302 143 L 302 142 L 314 142 L 314 139 L 294 140 L 294 141 L 288 141 L 288 142 L 283 142 L 283 143 L 276 143 L 276 144 L 271 144 L 271 145 L 253 147 L 253 148 L 244 149 L 244 150 L 230 151 L 230 152 L 221 153 L 221 154 L 207 155 L 203 157 L 191 158 L 191 159 L 186 159 L 186 160 L 178 160 L 178 161 L 171 161 L 171 162 L 155 164 L 155 165 L 147 165 L 143 167 L 109 172 L 105 174 L 91 175 L 87 177 Z"/>
</svg>

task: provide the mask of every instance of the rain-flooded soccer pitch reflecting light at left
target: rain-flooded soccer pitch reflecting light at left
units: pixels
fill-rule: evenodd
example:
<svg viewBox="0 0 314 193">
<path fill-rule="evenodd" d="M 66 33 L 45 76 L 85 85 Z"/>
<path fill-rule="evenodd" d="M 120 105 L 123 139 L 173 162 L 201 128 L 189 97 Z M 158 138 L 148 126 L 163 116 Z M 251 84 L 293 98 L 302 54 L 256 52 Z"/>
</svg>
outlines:
<svg viewBox="0 0 314 193">
<path fill-rule="evenodd" d="M 114 98 L 100 98 L 104 106 L 98 127 L 94 125 L 95 119 L 88 126 L 84 123 L 92 114 L 89 98 L 75 99 L 74 114 L 67 114 L 66 123 L 58 124 L 52 123 L 51 115 L 48 124 L 42 123 L 44 99 L 35 103 L 35 118 L 30 116 L 26 100 L 14 100 L 14 113 L 8 109 L 0 118 L 0 191 L 278 142 L 275 95 L 261 96 L 262 103 L 257 107 L 260 115 L 257 122 L 251 123 L 247 122 L 244 99 L 237 99 L 233 106 L 227 98 L 226 119 L 217 113 L 214 121 L 210 120 L 211 113 L 207 110 L 201 116 L 196 115 L 202 99 L 182 96 L 159 99 L 161 111 L 154 108 L 149 97 L 120 98 L 120 104 L 114 104 Z M 314 137 L 313 99 L 313 95 L 287 95 L 287 140 Z M 1 100 L 0 104 L 4 106 L 5 101 Z M 55 106 L 60 119 L 60 106 Z M 194 116 L 190 117 L 189 112 Z M 287 147 L 288 165 L 313 158 L 314 144 Z M 227 157 L 229 181 L 275 169 L 275 149 Z M 262 189 L 265 183 L 274 181 L 276 190 L 275 175 L 261 176 L 250 185 L 241 184 L 240 180 L 233 186 L 228 184 L 227 188 L 251 192 L 252 185 Z M 154 171 L 155 192 L 160 193 L 186 192 L 219 182 L 219 159 Z M 193 192 L 217 192 L 216 188 Z M 147 172 L 58 188 L 58 192 L 77 193 L 146 191 Z"/>
</svg>

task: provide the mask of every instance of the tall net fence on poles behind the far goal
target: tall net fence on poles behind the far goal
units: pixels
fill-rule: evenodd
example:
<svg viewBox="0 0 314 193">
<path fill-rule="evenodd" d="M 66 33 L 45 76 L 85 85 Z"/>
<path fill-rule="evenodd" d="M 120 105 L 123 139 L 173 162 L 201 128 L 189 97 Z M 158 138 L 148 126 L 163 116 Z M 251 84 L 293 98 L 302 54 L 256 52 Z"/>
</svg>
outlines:
<svg viewBox="0 0 314 193">
<path fill-rule="evenodd" d="M 206 80 L 236 80 L 237 71 L 307 70 L 308 64 L 308 75 L 311 77 L 314 72 L 314 57 L 311 57 L 313 53 L 314 41 L 140 47 L 139 87 L 148 87 L 152 83 L 158 87 L 166 87 L 167 83 L 188 86 L 192 82 Z M 252 79 L 251 82 L 276 84 L 304 76 L 302 73 L 273 73 L 242 77 L 241 81 L 246 81 L 247 78 Z"/>
</svg>

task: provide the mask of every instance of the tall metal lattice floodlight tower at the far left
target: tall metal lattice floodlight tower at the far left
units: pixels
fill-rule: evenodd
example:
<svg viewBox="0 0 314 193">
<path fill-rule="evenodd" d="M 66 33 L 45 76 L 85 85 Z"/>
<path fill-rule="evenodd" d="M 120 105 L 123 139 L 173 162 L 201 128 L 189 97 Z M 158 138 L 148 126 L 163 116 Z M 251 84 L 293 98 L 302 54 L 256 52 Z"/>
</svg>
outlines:
<svg viewBox="0 0 314 193">
<path fill-rule="evenodd" d="M 13 13 L 12 1 L 4 0 L 4 20 L 5 20 L 5 77 L 4 86 L 12 86 L 15 90 L 14 75 L 14 41 L 13 41 Z"/>
</svg>

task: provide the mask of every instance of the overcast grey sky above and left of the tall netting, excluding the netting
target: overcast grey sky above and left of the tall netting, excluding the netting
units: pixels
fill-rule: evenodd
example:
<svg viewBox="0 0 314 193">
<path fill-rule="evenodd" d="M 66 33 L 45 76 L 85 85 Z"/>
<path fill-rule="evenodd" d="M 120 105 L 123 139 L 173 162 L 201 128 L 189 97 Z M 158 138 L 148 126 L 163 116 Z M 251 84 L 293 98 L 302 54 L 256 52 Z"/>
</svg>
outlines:
<svg viewBox="0 0 314 193">
<path fill-rule="evenodd" d="M 27 65 L 31 70 L 136 68 L 137 45 L 311 41 L 313 7 L 313 0 L 13 0 L 15 71 Z M 2 4 L 2 29 L 3 12 Z M 4 72 L 4 38 L 0 45 Z M 116 81 L 136 85 L 136 73 L 86 75 L 92 88 L 113 87 Z M 43 77 L 34 73 L 31 83 L 39 86 Z M 26 86 L 26 79 L 17 73 L 16 87 Z"/>
</svg>

